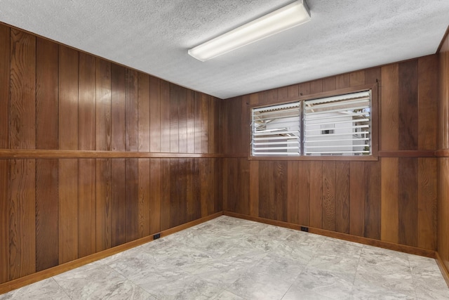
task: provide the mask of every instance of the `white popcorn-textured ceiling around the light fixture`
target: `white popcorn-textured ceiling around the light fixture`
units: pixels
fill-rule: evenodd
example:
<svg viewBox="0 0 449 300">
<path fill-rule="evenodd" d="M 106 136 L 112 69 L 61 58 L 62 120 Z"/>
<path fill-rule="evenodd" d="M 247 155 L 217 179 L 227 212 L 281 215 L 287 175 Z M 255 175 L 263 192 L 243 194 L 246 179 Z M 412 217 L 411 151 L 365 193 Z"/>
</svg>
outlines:
<svg viewBox="0 0 449 300">
<path fill-rule="evenodd" d="M 291 0 L 0 0 L 0 21 L 218 98 L 436 52 L 449 0 L 307 0 L 311 21 L 200 62 L 187 49 Z"/>
</svg>

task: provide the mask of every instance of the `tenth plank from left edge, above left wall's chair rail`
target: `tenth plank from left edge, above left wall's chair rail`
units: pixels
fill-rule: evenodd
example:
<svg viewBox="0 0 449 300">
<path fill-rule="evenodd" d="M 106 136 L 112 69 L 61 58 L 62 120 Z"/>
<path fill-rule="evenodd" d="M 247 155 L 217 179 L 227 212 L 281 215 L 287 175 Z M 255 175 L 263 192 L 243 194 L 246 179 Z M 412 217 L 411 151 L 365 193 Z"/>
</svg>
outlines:
<svg viewBox="0 0 449 300">
<path fill-rule="evenodd" d="M 161 152 L 161 79 L 149 77 L 149 150 Z"/>
</svg>

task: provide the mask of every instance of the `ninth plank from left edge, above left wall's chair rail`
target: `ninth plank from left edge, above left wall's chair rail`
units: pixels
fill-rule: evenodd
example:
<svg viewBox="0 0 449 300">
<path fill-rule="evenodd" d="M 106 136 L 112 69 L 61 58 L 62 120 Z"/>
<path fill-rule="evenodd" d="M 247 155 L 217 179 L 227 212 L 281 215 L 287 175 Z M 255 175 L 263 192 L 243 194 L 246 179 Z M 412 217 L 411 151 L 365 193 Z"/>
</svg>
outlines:
<svg viewBox="0 0 449 300">
<path fill-rule="evenodd" d="M 149 75 L 138 74 L 138 150 L 149 152 Z"/>
</svg>

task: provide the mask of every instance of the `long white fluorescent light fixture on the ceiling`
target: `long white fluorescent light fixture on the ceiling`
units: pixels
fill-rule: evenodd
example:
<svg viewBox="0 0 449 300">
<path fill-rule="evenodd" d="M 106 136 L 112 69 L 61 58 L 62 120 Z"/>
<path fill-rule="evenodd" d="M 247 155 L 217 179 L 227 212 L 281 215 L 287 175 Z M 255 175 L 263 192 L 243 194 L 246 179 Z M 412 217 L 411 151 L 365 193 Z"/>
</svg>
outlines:
<svg viewBox="0 0 449 300">
<path fill-rule="evenodd" d="M 272 13 L 268 13 L 234 30 L 189 49 L 197 60 L 206 61 L 229 51 L 251 44 L 273 34 L 283 32 L 310 20 L 305 0 L 298 0 Z"/>
</svg>

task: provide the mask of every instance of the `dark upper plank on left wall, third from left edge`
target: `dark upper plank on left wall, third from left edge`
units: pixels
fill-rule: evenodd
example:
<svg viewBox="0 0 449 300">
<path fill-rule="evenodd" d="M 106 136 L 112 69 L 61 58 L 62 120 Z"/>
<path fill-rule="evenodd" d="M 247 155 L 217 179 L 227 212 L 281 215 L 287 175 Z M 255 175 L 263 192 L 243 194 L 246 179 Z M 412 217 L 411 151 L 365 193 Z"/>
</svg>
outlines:
<svg viewBox="0 0 449 300">
<path fill-rule="evenodd" d="M 58 149 L 59 146 L 58 60 L 58 44 L 37 38 L 36 149 Z"/>
</svg>

